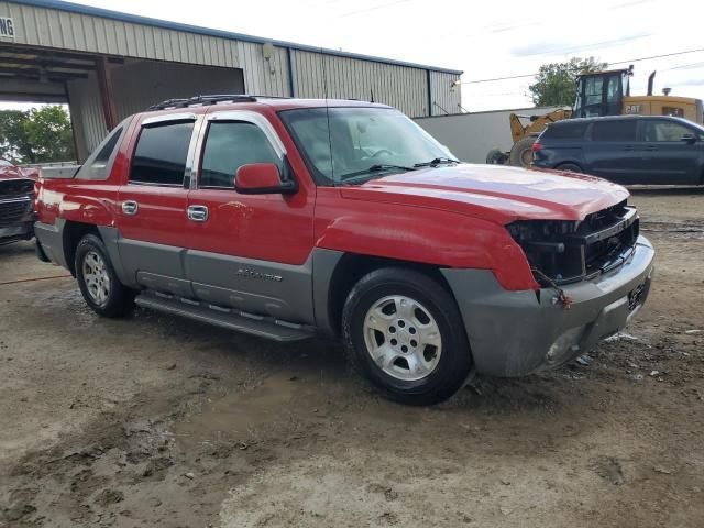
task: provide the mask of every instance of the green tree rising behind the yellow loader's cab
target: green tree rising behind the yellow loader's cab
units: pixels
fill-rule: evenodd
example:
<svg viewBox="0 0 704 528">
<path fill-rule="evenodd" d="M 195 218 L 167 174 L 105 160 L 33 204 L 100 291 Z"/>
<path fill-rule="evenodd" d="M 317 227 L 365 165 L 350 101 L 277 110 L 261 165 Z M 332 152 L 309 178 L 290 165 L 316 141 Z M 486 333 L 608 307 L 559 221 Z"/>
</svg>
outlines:
<svg viewBox="0 0 704 528">
<path fill-rule="evenodd" d="M 575 82 L 580 74 L 603 72 L 607 63 L 594 57 L 573 57 L 566 63 L 543 64 L 536 75 L 536 82 L 528 87 L 536 107 L 562 107 L 574 102 Z"/>
</svg>

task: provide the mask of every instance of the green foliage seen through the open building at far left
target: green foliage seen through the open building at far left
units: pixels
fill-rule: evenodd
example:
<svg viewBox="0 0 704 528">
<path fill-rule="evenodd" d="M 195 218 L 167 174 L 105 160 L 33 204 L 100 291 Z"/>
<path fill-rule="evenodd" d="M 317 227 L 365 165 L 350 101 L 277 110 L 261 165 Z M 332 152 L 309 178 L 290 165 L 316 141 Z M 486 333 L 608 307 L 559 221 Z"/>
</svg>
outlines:
<svg viewBox="0 0 704 528">
<path fill-rule="evenodd" d="M 75 160 L 68 112 L 61 106 L 0 110 L 0 157 L 12 163 Z"/>
</svg>

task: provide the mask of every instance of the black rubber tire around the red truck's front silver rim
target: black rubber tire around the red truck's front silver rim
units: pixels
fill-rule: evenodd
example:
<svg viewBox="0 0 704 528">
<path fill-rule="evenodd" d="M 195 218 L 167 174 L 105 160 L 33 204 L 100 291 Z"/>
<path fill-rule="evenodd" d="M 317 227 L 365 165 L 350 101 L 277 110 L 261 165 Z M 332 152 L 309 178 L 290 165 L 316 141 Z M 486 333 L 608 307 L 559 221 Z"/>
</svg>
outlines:
<svg viewBox="0 0 704 528">
<path fill-rule="evenodd" d="M 416 346 L 416 350 L 409 353 L 409 355 L 413 355 L 413 361 L 416 365 L 419 364 L 417 362 L 419 355 L 417 354 L 424 354 L 422 358 L 427 359 L 427 354 L 430 352 L 431 359 L 428 361 L 437 361 L 429 374 L 427 374 L 425 366 L 422 367 L 422 372 L 426 374 L 419 380 L 402 380 L 397 377 L 398 375 L 415 375 L 411 371 L 411 363 L 409 363 L 411 358 L 409 355 L 399 355 L 402 353 L 400 349 L 389 352 L 389 358 L 395 356 L 396 360 L 394 360 L 393 364 L 387 365 L 387 369 L 395 370 L 402 374 L 394 373 L 394 375 L 389 375 L 372 359 L 372 352 L 369 351 L 366 344 L 367 332 L 373 332 L 375 339 L 378 339 L 380 334 L 383 336 L 381 331 L 365 328 L 369 311 L 380 301 L 392 296 L 409 299 L 421 305 L 420 308 L 427 310 L 428 315 L 431 316 L 431 319 L 426 317 L 430 321 L 430 327 L 439 329 L 441 351 L 439 355 L 432 356 L 433 349 L 435 353 L 438 354 L 437 348 L 424 345 L 420 342 L 416 342 L 413 345 Z M 422 310 L 420 314 L 424 314 Z M 414 311 L 413 314 L 417 312 Z M 420 322 L 420 314 L 413 316 L 416 323 Z M 393 314 L 388 317 L 394 319 L 402 316 Z M 395 330 L 398 332 L 397 336 L 402 343 L 408 343 L 407 349 L 414 343 L 410 334 L 411 330 L 414 334 L 417 332 L 418 340 L 424 339 L 420 337 L 422 332 L 420 327 L 416 330 L 413 327 L 415 324 L 413 322 L 414 319 L 409 320 L 411 322 L 407 324 L 403 337 L 400 336 L 402 330 L 388 327 L 388 331 Z M 436 324 L 435 327 L 432 327 L 433 323 Z M 389 324 L 394 324 L 393 320 Z M 464 323 L 454 299 L 443 286 L 420 272 L 404 268 L 382 268 L 362 277 L 350 292 L 342 310 L 342 334 L 350 355 L 370 381 L 381 388 L 389 399 L 402 404 L 433 405 L 443 402 L 462 387 L 472 369 L 472 355 L 464 331 Z M 394 340 L 388 341 L 388 345 L 392 344 L 392 341 Z M 378 346 L 378 341 L 376 345 Z M 422 350 L 419 350 L 420 348 Z M 381 348 L 377 350 L 381 350 Z M 403 364 L 404 361 L 406 366 Z M 400 363 L 397 364 L 397 362 Z"/>
</svg>

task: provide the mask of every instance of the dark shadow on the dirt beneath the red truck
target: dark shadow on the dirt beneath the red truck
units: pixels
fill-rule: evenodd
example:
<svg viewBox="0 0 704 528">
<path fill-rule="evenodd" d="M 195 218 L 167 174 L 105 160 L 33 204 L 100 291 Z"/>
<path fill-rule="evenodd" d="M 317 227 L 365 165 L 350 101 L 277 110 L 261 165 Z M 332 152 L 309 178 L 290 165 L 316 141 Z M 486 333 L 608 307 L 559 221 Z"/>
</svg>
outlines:
<svg viewBox="0 0 704 528">
<path fill-rule="evenodd" d="M 230 365 L 261 373 L 264 377 L 278 373 L 282 380 L 302 380 L 315 384 L 310 405 L 343 400 L 353 409 L 381 414 L 385 420 L 404 422 L 422 413 L 482 416 L 515 416 L 560 413 L 579 406 L 574 383 L 579 372 L 563 367 L 554 372 L 524 378 L 473 377 L 465 387 L 446 403 L 433 407 L 408 407 L 387 400 L 364 377 L 344 346 L 333 340 L 317 338 L 295 343 L 276 343 L 261 338 L 215 329 L 197 322 L 138 309 L 140 326 L 154 324 L 158 332 L 177 342 L 210 341 L 208 362 L 224 358 Z M 584 381 L 587 383 L 586 381 Z M 256 397 L 255 394 L 250 397 Z M 315 403 L 315 400 L 320 400 Z"/>
</svg>

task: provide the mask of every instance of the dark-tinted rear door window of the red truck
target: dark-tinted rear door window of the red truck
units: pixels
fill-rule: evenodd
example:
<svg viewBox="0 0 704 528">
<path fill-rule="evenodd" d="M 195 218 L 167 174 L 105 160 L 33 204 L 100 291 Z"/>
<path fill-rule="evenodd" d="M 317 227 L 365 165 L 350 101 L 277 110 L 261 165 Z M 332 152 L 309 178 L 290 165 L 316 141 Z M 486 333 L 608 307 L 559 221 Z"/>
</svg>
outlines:
<svg viewBox="0 0 704 528">
<path fill-rule="evenodd" d="M 183 186 L 193 121 L 142 128 L 134 151 L 130 183 Z"/>
</svg>

